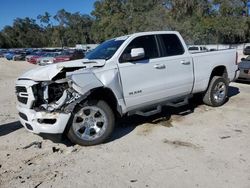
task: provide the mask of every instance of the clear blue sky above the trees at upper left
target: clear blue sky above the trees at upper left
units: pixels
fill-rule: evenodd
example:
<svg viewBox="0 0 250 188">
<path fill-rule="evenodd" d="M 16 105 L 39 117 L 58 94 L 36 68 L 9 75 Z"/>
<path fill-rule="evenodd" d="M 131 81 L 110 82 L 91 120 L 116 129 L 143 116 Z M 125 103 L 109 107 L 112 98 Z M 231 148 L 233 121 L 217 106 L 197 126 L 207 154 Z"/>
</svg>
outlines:
<svg viewBox="0 0 250 188">
<path fill-rule="evenodd" d="M 60 9 L 90 14 L 94 2 L 95 0 L 0 0 L 0 30 L 6 25 L 12 25 L 15 18 L 36 19 L 46 11 L 50 15 L 55 15 Z"/>
</svg>

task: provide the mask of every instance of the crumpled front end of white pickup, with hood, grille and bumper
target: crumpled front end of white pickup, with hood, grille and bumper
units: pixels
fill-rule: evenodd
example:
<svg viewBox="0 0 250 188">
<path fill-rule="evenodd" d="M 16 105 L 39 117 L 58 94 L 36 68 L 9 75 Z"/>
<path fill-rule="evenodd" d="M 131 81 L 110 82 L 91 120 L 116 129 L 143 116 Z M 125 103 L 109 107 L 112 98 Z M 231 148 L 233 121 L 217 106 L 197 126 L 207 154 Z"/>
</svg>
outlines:
<svg viewBox="0 0 250 188">
<path fill-rule="evenodd" d="M 102 86 L 90 68 L 104 66 L 105 62 L 75 60 L 23 74 L 16 81 L 17 110 L 22 125 L 33 133 L 63 133 L 76 105 L 89 95 L 93 86 Z M 81 74 L 77 72 L 80 69 Z M 73 72 L 76 75 L 72 76 Z"/>
</svg>

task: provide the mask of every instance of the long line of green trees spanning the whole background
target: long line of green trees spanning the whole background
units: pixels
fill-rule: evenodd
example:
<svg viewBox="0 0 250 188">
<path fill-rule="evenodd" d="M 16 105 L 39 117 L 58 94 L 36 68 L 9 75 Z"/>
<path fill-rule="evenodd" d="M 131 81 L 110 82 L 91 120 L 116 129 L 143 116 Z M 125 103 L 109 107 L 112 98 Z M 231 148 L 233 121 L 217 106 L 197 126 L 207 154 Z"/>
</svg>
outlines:
<svg viewBox="0 0 250 188">
<path fill-rule="evenodd" d="M 140 31 L 177 30 L 189 44 L 250 40 L 248 0 L 97 0 L 91 15 L 45 12 L 17 18 L 0 32 L 0 48 L 99 43 Z"/>
</svg>

